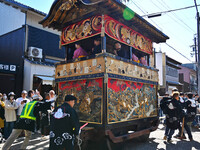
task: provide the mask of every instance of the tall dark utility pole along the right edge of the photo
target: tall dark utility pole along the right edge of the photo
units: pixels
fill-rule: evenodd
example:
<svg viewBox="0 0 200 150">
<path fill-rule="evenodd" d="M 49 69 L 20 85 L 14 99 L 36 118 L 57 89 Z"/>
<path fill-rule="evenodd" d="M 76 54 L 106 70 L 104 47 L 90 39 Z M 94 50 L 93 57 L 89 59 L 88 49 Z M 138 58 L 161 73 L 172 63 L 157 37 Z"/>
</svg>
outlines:
<svg viewBox="0 0 200 150">
<path fill-rule="evenodd" d="M 194 0 L 195 6 L 196 6 L 196 11 L 197 11 L 197 46 L 198 46 L 198 83 L 197 83 L 197 89 L 198 89 L 198 94 L 200 95 L 200 35 L 199 35 L 199 11 L 197 8 L 197 3 L 196 0 Z"/>
</svg>

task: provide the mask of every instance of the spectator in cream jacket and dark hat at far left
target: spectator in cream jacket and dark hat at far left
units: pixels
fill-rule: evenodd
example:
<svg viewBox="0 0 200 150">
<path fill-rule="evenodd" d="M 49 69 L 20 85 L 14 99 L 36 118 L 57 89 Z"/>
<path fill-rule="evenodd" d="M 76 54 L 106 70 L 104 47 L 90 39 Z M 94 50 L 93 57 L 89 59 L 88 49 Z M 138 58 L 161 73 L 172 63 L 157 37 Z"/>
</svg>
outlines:
<svg viewBox="0 0 200 150">
<path fill-rule="evenodd" d="M 14 96 L 14 92 L 10 92 L 8 94 L 8 100 L 5 101 L 5 139 L 10 136 L 14 123 L 17 120 L 16 109 L 18 108 L 18 105 L 15 102 Z"/>
</svg>

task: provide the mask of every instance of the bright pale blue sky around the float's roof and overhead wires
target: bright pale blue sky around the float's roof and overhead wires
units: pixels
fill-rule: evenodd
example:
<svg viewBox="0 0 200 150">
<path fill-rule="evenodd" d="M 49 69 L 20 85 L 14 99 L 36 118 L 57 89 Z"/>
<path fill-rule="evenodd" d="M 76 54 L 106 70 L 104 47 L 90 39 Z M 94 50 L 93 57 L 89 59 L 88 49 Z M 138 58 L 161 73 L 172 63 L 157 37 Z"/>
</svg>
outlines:
<svg viewBox="0 0 200 150">
<path fill-rule="evenodd" d="M 54 0 L 16 0 L 20 3 L 48 13 Z M 194 0 L 130 0 L 128 5 L 137 14 L 143 16 L 155 12 L 162 12 L 187 6 L 193 6 Z M 200 4 L 200 0 L 197 0 Z M 200 11 L 200 7 L 199 11 Z M 162 14 L 160 17 L 152 19 L 145 18 L 163 33 L 170 37 L 167 43 L 181 52 L 190 60 L 194 61 L 194 56 L 191 57 L 191 45 L 194 44 L 194 34 L 197 32 L 196 9 L 195 7 L 176 12 Z M 156 51 L 165 52 L 169 57 L 181 62 L 190 63 L 187 59 L 175 52 L 166 44 L 155 44 Z"/>
</svg>

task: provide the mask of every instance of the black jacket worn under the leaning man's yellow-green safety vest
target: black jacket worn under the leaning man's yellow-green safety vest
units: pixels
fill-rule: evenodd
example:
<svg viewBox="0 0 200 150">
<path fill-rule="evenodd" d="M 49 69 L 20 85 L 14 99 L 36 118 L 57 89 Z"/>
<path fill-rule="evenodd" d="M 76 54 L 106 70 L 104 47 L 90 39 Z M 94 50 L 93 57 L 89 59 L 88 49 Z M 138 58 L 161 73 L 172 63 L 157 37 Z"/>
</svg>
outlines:
<svg viewBox="0 0 200 150">
<path fill-rule="evenodd" d="M 34 116 L 37 116 L 37 115 L 39 115 L 39 111 L 48 110 L 50 108 L 51 108 L 51 102 L 40 102 L 40 101 L 38 101 L 34 106 L 33 114 L 34 114 Z M 14 129 L 24 129 L 24 130 L 34 132 L 35 121 L 31 120 L 31 119 L 26 119 L 26 118 L 19 118 L 16 121 Z"/>
</svg>

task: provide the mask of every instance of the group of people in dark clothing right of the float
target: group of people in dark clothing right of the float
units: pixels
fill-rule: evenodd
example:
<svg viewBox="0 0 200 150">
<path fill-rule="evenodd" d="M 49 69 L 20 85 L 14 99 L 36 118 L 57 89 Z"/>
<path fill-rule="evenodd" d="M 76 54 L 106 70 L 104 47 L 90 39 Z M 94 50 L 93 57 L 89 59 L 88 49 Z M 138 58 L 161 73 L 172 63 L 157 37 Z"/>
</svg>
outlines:
<svg viewBox="0 0 200 150">
<path fill-rule="evenodd" d="M 172 142 L 175 130 L 178 130 L 178 134 L 174 136 L 175 138 L 186 139 L 185 130 L 189 140 L 193 141 L 190 125 L 199 128 L 200 124 L 199 115 L 196 115 L 200 113 L 200 98 L 198 94 L 194 95 L 190 92 L 179 93 L 177 89 L 174 89 L 171 96 L 166 93 L 162 97 L 160 108 L 160 116 L 162 116 L 162 113 L 165 114 L 164 124 L 166 128 L 163 139 Z"/>
</svg>

